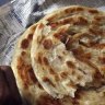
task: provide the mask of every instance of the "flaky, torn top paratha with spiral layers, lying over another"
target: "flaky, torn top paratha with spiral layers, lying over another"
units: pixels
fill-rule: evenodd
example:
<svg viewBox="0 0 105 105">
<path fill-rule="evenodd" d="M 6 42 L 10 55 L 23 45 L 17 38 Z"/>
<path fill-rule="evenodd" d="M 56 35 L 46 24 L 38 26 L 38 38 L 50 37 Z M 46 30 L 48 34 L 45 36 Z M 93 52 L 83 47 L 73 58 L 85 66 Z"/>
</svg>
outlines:
<svg viewBox="0 0 105 105">
<path fill-rule="evenodd" d="M 54 97 L 105 84 L 105 13 L 71 5 L 45 16 L 31 58 L 37 80 Z"/>
</svg>

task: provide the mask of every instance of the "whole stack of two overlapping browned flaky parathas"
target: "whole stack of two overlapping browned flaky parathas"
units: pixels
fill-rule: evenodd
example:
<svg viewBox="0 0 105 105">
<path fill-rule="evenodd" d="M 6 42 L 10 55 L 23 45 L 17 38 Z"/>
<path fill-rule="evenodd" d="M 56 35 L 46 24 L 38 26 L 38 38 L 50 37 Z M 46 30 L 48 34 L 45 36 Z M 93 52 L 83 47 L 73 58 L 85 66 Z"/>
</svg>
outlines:
<svg viewBox="0 0 105 105">
<path fill-rule="evenodd" d="M 105 105 L 105 13 L 70 5 L 20 36 L 11 62 L 31 105 Z"/>
</svg>

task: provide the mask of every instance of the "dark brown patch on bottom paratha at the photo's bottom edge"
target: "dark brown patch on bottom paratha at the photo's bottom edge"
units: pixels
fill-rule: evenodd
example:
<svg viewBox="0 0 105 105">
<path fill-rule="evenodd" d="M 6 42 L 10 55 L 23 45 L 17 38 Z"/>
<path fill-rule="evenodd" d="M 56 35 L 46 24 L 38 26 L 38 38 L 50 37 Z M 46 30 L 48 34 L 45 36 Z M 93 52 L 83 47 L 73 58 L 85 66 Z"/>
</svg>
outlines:
<svg viewBox="0 0 105 105">
<path fill-rule="evenodd" d="M 45 94 L 40 95 L 36 101 L 37 105 L 62 105 L 59 100 L 54 98 L 52 96 Z"/>
</svg>

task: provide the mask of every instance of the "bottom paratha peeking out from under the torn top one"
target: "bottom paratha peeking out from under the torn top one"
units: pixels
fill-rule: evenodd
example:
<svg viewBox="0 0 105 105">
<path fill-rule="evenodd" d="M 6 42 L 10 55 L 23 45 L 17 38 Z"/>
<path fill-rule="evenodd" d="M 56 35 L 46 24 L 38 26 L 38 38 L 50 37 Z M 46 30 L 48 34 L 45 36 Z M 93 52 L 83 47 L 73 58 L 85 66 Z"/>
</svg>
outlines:
<svg viewBox="0 0 105 105">
<path fill-rule="evenodd" d="M 19 38 L 15 46 L 14 56 L 12 59 L 12 69 L 16 79 L 18 86 L 20 89 L 21 95 L 27 101 L 30 105 L 104 105 L 105 104 L 105 88 L 94 91 L 78 91 L 74 98 L 70 96 L 65 96 L 61 100 L 54 98 L 49 95 L 39 84 L 36 77 L 34 75 L 32 66 L 31 66 L 31 43 L 33 32 L 36 27 L 36 24 L 32 25 L 25 31 L 25 33 Z M 22 42 L 28 39 L 30 46 L 22 47 Z M 25 43 L 26 44 L 26 43 Z M 26 55 L 21 54 L 26 52 Z M 28 55 L 27 55 L 28 54 Z M 21 59 L 21 60 L 19 60 Z M 19 62 L 19 63 L 18 63 Z M 98 104 L 100 103 L 100 104 Z"/>
</svg>

